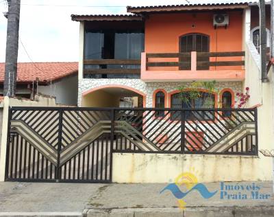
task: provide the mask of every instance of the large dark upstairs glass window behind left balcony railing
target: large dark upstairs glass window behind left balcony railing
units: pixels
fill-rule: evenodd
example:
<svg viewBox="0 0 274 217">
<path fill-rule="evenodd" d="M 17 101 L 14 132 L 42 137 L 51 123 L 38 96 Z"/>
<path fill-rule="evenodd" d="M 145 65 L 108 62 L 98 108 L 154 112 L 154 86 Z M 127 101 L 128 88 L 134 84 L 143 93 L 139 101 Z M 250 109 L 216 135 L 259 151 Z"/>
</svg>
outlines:
<svg viewBox="0 0 274 217">
<path fill-rule="evenodd" d="M 116 59 L 140 60 L 145 49 L 143 30 L 86 30 L 84 60 Z M 84 69 L 140 69 L 140 64 L 84 64 Z M 137 74 L 108 74 L 107 78 L 140 78 Z M 86 78 L 104 78 L 103 75 L 87 74 Z M 118 78 L 118 77 L 117 77 Z"/>
</svg>

